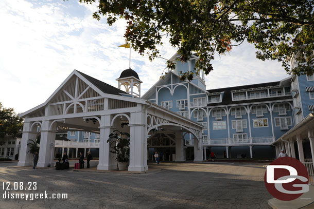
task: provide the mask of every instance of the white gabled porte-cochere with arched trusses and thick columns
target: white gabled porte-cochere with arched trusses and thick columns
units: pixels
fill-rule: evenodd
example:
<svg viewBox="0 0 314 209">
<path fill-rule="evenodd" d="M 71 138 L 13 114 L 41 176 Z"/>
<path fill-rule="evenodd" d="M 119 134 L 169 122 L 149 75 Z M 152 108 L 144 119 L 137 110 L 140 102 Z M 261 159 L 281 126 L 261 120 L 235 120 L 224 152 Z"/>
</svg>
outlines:
<svg viewBox="0 0 314 209">
<path fill-rule="evenodd" d="M 53 166 L 56 133 L 68 129 L 99 133 L 97 169 L 116 169 L 115 155 L 110 152 L 112 143 L 107 143 L 110 133 L 114 130 L 130 133 L 130 171 L 148 169 L 147 136 L 151 132 L 175 133 L 176 161 L 184 161 L 183 134 L 193 135 L 194 160 L 203 160 L 200 141 L 202 125 L 77 70 L 68 76 L 46 102 L 22 113 L 20 117 L 23 117 L 25 122 L 19 166 L 32 164 L 33 157 L 27 144 L 39 134 L 41 142 L 37 166 Z M 121 123 L 128 125 L 121 127 Z"/>
</svg>

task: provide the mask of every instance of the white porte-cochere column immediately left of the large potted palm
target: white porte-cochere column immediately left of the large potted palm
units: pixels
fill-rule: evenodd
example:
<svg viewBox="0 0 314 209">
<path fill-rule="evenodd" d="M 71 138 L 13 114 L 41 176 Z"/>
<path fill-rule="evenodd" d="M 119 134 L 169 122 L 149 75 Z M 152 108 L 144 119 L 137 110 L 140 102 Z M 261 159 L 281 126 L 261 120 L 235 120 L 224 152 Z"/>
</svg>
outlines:
<svg viewBox="0 0 314 209">
<path fill-rule="evenodd" d="M 111 142 L 107 143 L 109 139 L 109 135 L 114 130 L 113 127 L 110 126 L 111 117 L 110 115 L 101 116 L 100 121 L 100 136 L 99 136 L 99 162 L 97 169 L 98 170 L 112 170 L 117 168 L 117 163 L 115 160 L 115 155 L 110 153 L 110 146 L 113 146 Z"/>
</svg>

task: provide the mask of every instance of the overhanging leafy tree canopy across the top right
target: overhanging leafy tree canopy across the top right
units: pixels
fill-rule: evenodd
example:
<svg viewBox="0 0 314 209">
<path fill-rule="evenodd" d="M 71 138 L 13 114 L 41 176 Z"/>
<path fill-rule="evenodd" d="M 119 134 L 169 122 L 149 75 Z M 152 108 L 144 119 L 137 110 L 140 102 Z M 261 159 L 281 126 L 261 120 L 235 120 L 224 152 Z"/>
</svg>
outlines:
<svg viewBox="0 0 314 209">
<path fill-rule="evenodd" d="M 100 20 L 101 15 L 109 25 L 125 18 L 126 41 L 140 54 L 148 53 L 150 60 L 160 56 L 157 45 L 169 36 L 181 54 L 179 60 L 187 61 L 196 52 L 196 67 L 208 74 L 214 53 L 224 54 L 247 40 L 257 49 L 258 59 L 280 61 L 288 73 L 313 73 L 312 0 L 99 0 L 93 16 Z M 299 65 L 290 71 L 293 55 Z M 167 64 L 175 67 L 175 62 Z M 182 79 L 191 80 L 194 73 Z"/>
</svg>

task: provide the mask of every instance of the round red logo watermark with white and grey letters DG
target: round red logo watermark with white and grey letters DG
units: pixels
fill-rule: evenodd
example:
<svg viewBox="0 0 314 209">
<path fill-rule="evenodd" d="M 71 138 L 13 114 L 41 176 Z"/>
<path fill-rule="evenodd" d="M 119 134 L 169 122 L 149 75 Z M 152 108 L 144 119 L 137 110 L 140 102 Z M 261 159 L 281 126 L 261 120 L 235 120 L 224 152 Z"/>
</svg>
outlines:
<svg viewBox="0 0 314 209">
<path fill-rule="evenodd" d="M 268 192 L 278 200 L 294 200 L 309 191 L 306 167 L 295 158 L 274 160 L 266 167 L 264 181 Z"/>
</svg>

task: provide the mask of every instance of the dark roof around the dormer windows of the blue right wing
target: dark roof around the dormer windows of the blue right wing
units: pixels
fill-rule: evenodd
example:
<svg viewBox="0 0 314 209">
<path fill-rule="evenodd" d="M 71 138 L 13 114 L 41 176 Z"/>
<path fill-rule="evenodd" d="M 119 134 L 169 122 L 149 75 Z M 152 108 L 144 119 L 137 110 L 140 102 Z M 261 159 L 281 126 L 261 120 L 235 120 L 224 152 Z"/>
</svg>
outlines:
<svg viewBox="0 0 314 209">
<path fill-rule="evenodd" d="M 271 97 L 271 98 L 260 98 L 260 99 L 251 99 L 251 100 L 239 100 L 239 101 L 232 101 L 231 92 L 235 90 L 241 89 L 255 89 L 255 88 L 263 88 L 263 87 L 270 87 L 270 86 L 280 86 L 280 81 L 276 82 L 269 82 L 269 83 L 260 83 L 260 84 L 251 84 L 245 86 L 234 86 L 228 88 L 218 88 L 218 89 L 210 89 L 207 90 L 209 93 L 215 92 L 224 92 L 222 97 L 222 102 L 219 103 L 209 103 L 207 106 L 219 106 L 219 105 L 233 105 L 233 104 L 243 104 L 243 103 L 255 103 L 255 102 L 268 102 L 274 100 L 288 100 L 292 99 L 291 96 L 282 96 L 282 97 Z M 281 86 L 282 88 L 283 86 Z M 288 86 L 287 86 L 288 87 Z M 256 89 L 258 90 L 258 89 Z"/>
</svg>

